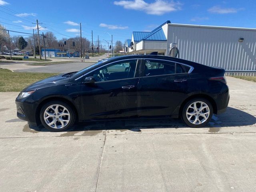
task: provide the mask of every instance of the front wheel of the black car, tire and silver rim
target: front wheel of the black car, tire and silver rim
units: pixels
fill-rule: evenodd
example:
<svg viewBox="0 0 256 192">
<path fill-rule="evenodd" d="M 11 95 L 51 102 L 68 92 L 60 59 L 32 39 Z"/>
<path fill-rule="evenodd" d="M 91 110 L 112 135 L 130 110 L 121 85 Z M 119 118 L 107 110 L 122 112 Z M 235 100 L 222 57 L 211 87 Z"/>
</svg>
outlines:
<svg viewBox="0 0 256 192">
<path fill-rule="evenodd" d="M 74 124 L 75 113 L 69 104 L 56 100 L 42 106 L 40 120 L 46 129 L 60 132 L 67 130 Z"/>
</svg>

